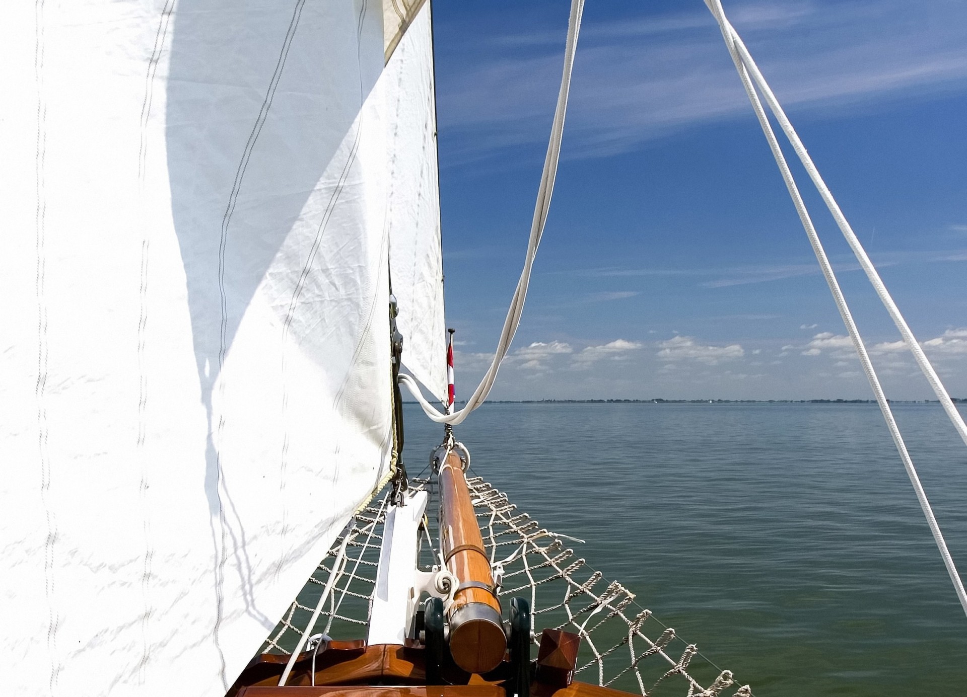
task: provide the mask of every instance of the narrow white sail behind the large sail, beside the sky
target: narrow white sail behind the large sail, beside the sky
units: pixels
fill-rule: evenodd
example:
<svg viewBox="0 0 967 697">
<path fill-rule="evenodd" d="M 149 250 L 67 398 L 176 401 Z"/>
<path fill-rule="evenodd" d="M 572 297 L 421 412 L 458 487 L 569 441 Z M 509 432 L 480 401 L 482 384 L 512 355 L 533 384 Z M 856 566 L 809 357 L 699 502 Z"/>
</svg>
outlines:
<svg viewBox="0 0 967 697">
<path fill-rule="evenodd" d="M 403 334 L 403 366 L 441 401 L 447 397 L 440 192 L 430 5 L 425 3 L 390 62 L 390 271 Z"/>
</svg>

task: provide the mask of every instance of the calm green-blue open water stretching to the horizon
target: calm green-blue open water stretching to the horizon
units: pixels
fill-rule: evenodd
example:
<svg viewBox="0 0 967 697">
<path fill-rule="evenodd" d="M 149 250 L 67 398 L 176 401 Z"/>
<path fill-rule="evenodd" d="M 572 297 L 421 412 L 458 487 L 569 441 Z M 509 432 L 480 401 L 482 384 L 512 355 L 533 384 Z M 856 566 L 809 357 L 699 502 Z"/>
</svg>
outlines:
<svg viewBox="0 0 967 697">
<path fill-rule="evenodd" d="M 967 573 L 967 447 L 938 405 L 895 413 Z M 415 474 L 442 427 L 405 414 Z M 876 405 L 487 404 L 456 435 L 757 697 L 967 693 L 967 618 Z"/>
</svg>

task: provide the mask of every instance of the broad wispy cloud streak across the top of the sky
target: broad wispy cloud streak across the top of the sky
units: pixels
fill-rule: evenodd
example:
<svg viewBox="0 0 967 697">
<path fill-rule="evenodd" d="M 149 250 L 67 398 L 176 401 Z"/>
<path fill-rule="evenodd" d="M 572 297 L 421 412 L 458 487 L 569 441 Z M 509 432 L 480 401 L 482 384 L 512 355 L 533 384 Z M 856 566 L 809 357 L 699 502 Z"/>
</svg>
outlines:
<svg viewBox="0 0 967 697">
<path fill-rule="evenodd" d="M 730 16 L 787 107 L 841 109 L 967 84 L 961 2 L 745 3 Z M 440 102 L 442 128 L 474 133 L 458 158 L 546 139 L 563 41 L 558 33 L 505 36 L 495 40 L 489 60 L 458 74 L 444 69 L 441 79 L 453 86 Z M 748 111 L 704 10 L 587 22 L 581 42 L 571 88 L 571 156 L 626 151 Z"/>
</svg>

